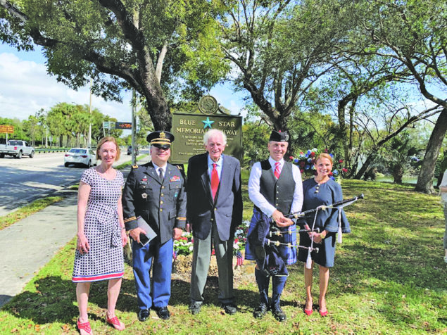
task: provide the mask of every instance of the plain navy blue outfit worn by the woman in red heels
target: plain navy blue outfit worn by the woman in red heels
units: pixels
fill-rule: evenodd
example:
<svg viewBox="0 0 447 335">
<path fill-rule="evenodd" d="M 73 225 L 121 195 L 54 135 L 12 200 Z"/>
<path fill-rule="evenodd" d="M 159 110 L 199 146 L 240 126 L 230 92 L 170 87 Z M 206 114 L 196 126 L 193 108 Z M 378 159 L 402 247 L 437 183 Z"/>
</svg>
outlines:
<svg viewBox="0 0 447 335">
<path fill-rule="evenodd" d="M 334 180 L 329 179 L 327 182 L 320 184 L 318 191 L 317 184 L 313 178 L 303 182 L 303 211 L 317 208 L 321 205 L 331 205 L 332 203 L 343 200 L 341 186 L 337 182 L 334 182 Z M 351 229 L 348 219 L 346 218 L 344 210 L 341 208 L 318 210 L 316 214 L 313 212 L 306 215 L 306 222 L 310 228 L 313 227 L 315 220 L 315 228 L 320 228 L 320 232 L 324 229 L 328 232 L 321 244 L 313 243 L 313 247 L 319 248 L 319 251 L 312 251 L 310 254 L 315 263 L 324 267 L 334 266 L 336 233 L 339 231 L 339 210 L 341 210 L 341 231 L 350 233 Z M 310 246 L 310 238 L 307 232 L 300 233 L 300 245 Z M 308 250 L 300 248 L 298 251 L 298 260 L 306 263 L 307 258 Z"/>
</svg>

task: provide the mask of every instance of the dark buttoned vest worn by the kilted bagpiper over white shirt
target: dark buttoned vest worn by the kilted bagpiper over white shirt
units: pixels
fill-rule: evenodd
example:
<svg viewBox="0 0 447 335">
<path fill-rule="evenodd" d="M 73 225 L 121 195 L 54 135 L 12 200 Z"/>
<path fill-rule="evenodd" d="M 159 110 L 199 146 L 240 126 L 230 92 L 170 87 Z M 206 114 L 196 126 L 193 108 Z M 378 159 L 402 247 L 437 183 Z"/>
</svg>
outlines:
<svg viewBox="0 0 447 335">
<path fill-rule="evenodd" d="M 259 180 L 260 194 L 281 213 L 290 213 L 295 191 L 291 163 L 284 162 L 278 179 L 276 179 L 268 160 L 261 161 L 260 168 L 262 169 Z"/>
</svg>

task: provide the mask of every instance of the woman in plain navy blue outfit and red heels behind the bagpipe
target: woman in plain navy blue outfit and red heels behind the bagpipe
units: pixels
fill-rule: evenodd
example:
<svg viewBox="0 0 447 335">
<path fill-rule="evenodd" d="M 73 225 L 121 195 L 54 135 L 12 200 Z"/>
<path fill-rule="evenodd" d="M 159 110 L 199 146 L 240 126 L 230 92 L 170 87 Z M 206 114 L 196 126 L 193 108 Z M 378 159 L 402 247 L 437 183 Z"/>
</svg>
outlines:
<svg viewBox="0 0 447 335">
<path fill-rule="evenodd" d="M 329 177 L 332 171 L 332 157 L 327 153 L 321 153 L 315 160 L 315 167 L 317 175 L 313 179 L 307 179 L 303 182 L 303 211 L 322 205 L 330 205 L 343 199 L 340 185 Z M 339 211 L 341 211 L 340 215 Z M 326 292 L 329 282 L 329 268 L 334 266 L 336 233 L 348 233 L 351 232 L 351 229 L 349 228 L 344 210 L 341 208 L 313 212 L 306 217 L 306 225 L 304 227 L 309 230 L 310 228 L 320 229 L 320 233 L 300 233 L 301 246 L 310 247 L 311 239 L 313 239 L 313 247 L 319 249 L 318 252 L 312 251 L 310 253 L 310 258 L 312 258 L 310 268 L 306 267 L 306 264 L 304 265 L 304 280 L 306 284 L 306 306 L 304 312 L 307 315 L 313 312 L 312 270 L 314 263 L 317 263 L 320 268 L 320 297 L 318 298 L 318 305 L 320 307 L 320 315 L 325 317 L 327 316 Z M 306 263 L 308 257 L 308 249 L 300 248 L 298 260 Z"/>
</svg>

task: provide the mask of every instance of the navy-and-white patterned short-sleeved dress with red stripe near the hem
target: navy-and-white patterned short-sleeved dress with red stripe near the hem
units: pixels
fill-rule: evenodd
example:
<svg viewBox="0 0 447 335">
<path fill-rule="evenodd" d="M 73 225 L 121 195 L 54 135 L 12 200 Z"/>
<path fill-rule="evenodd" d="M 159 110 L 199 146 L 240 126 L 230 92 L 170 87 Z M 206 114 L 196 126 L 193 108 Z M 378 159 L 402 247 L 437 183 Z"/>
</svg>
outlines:
<svg viewBox="0 0 447 335">
<path fill-rule="evenodd" d="M 73 282 L 97 282 L 121 278 L 124 274 L 118 200 L 124 177 L 120 171 L 108 180 L 94 167 L 84 171 L 81 181 L 89 184 L 89 200 L 84 217 L 84 234 L 89 252 L 76 251 Z"/>
</svg>

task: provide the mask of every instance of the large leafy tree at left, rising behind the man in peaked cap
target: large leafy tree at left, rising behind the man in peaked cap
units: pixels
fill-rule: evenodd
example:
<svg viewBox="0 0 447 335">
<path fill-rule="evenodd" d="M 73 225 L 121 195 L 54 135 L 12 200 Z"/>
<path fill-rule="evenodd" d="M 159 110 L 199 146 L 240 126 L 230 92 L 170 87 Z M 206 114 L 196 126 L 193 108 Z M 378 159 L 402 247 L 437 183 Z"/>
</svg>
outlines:
<svg viewBox="0 0 447 335">
<path fill-rule="evenodd" d="M 206 0 L 0 0 L 0 40 L 42 46 L 51 75 L 120 101 L 133 87 L 156 129 L 170 129 L 166 96 L 191 96 L 225 77 L 215 15 Z M 183 89 L 182 88 L 189 88 Z"/>
</svg>

